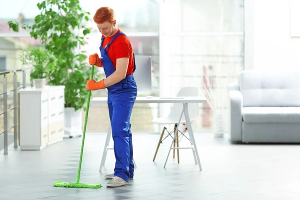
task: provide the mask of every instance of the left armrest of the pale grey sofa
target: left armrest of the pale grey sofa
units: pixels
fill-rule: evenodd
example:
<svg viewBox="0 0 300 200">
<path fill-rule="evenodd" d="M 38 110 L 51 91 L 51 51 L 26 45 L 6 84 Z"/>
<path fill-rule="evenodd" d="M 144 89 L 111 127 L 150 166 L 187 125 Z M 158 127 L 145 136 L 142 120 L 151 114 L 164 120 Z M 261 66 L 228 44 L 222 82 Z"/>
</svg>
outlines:
<svg viewBox="0 0 300 200">
<path fill-rule="evenodd" d="M 228 86 L 229 138 L 231 141 L 241 141 L 242 94 L 237 84 Z"/>
</svg>

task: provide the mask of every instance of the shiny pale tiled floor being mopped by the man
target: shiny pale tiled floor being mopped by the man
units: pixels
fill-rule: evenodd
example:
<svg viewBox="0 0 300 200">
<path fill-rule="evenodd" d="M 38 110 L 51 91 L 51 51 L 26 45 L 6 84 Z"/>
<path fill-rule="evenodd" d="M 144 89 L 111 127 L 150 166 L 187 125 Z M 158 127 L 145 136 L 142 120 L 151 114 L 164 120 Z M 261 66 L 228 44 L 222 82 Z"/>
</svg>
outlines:
<svg viewBox="0 0 300 200">
<path fill-rule="evenodd" d="M 152 157 L 157 134 L 133 135 L 137 164 L 133 180 L 118 188 L 105 186 L 105 173 L 113 170 L 109 150 L 102 172 L 98 171 L 105 133 L 87 133 L 80 182 L 102 183 L 98 189 L 52 187 L 56 180 L 76 181 L 81 137 L 65 139 L 41 151 L 0 151 L 0 199 L 204 199 L 268 200 L 300 199 L 300 146 L 230 144 L 208 133 L 195 134 L 202 171 L 190 149 L 180 149 L 180 163 L 169 157 L 170 137 Z M 185 138 L 179 145 L 188 146 Z M 176 156 L 175 156 L 176 158 Z"/>
</svg>

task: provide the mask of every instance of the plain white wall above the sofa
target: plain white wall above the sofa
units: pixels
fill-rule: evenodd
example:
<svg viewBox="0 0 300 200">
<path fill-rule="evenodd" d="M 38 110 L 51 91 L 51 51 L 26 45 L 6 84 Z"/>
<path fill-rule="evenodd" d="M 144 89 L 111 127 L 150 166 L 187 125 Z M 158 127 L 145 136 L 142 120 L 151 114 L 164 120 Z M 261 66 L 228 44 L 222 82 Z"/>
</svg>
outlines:
<svg viewBox="0 0 300 200">
<path fill-rule="evenodd" d="M 245 1 L 245 68 L 300 70 L 300 37 L 290 37 L 290 0 Z"/>
</svg>

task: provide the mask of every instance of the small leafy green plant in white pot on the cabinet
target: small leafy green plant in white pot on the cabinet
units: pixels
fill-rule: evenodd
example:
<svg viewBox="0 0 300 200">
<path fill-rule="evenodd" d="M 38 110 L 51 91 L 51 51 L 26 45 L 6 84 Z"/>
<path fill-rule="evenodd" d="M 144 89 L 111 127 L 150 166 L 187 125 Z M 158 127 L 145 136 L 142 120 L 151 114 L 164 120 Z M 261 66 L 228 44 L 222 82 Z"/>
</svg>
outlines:
<svg viewBox="0 0 300 200">
<path fill-rule="evenodd" d="M 53 71 L 57 58 L 43 46 L 29 45 L 22 50 L 20 60 L 24 65 L 33 67 L 30 80 L 33 79 L 36 88 L 43 88 L 46 84 L 46 77 L 49 72 Z"/>
</svg>

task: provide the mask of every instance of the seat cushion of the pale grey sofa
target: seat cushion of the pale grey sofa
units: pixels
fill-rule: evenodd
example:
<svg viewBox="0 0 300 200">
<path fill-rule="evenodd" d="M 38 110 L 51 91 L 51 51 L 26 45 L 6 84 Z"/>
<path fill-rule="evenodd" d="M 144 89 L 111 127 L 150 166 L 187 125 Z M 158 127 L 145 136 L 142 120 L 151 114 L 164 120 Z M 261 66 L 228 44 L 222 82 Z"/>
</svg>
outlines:
<svg viewBox="0 0 300 200">
<path fill-rule="evenodd" d="M 300 107 L 243 107 L 242 118 L 246 123 L 300 123 Z"/>
</svg>

